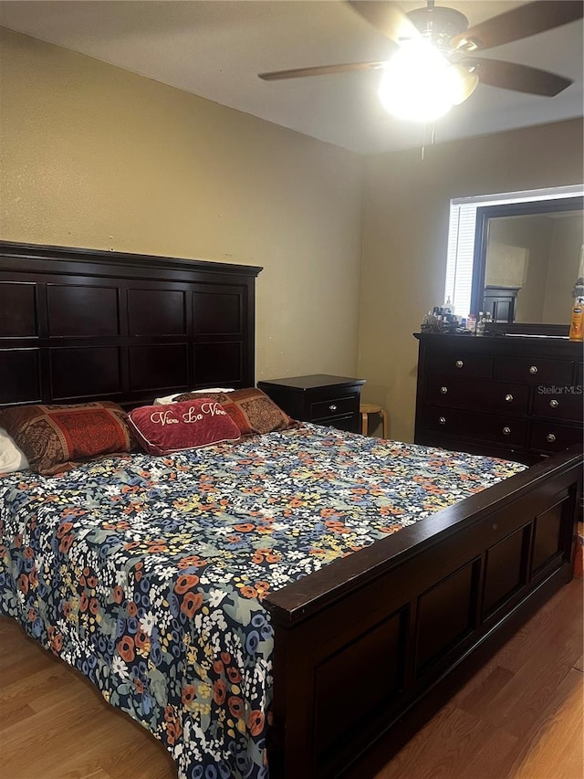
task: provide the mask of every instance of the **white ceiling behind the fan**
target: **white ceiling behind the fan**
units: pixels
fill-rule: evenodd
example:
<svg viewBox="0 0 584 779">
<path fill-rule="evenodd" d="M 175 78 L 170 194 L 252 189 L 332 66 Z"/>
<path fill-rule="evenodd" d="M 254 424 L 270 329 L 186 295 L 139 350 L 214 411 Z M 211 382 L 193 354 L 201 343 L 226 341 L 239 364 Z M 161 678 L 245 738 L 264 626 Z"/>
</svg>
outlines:
<svg viewBox="0 0 584 779">
<path fill-rule="evenodd" d="M 424 5 L 402 2 L 405 11 Z M 447 2 L 470 25 L 520 2 Z M 419 146 L 392 119 L 379 71 L 267 82 L 260 72 L 387 58 L 391 44 L 337 0 L 0 2 L 0 24 L 361 154 Z M 582 115 L 582 22 L 485 51 L 574 79 L 555 98 L 479 85 L 436 123 L 436 142 Z M 483 55 L 483 52 L 481 52 Z"/>
</svg>

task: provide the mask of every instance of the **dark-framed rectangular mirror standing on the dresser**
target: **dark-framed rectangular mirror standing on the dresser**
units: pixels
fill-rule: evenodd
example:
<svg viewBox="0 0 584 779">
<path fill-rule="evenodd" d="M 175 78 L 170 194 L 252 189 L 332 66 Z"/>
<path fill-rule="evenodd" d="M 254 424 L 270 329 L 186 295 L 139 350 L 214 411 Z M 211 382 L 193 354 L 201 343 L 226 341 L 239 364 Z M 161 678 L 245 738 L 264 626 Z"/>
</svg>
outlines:
<svg viewBox="0 0 584 779">
<path fill-rule="evenodd" d="M 471 311 L 493 321 L 568 325 L 584 274 L 584 198 L 476 209 Z"/>
</svg>

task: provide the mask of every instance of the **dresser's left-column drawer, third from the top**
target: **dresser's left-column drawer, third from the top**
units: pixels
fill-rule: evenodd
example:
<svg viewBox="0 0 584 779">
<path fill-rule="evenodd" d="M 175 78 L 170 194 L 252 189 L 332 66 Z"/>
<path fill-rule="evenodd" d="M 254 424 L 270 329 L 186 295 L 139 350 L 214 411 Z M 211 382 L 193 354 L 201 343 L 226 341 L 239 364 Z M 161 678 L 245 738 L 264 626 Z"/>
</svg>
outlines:
<svg viewBox="0 0 584 779">
<path fill-rule="evenodd" d="M 435 433 L 475 438 L 507 447 L 525 445 L 527 420 L 521 417 L 428 405 L 422 419 L 423 427 Z"/>
</svg>

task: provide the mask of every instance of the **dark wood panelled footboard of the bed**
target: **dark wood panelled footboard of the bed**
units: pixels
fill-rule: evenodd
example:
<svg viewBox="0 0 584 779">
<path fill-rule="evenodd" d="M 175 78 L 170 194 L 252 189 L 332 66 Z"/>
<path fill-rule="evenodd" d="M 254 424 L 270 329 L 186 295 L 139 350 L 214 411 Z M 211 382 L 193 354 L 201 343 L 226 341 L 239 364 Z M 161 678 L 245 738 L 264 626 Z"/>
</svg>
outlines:
<svg viewBox="0 0 584 779">
<path fill-rule="evenodd" d="M 572 576 L 581 447 L 266 599 L 271 779 L 372 776 Z"/>
</svg>

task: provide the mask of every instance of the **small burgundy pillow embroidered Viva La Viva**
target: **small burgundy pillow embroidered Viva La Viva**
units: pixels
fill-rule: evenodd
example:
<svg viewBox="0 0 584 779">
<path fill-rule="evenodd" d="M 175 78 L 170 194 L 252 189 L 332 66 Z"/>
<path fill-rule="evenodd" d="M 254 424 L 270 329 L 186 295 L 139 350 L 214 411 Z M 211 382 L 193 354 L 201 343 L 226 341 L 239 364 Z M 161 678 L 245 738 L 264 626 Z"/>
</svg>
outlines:
<svg viewBox="0 0 584 779">
<path fill-rule="evenodd" d="M 198 397 L 169 405 L 142 405 L 128 415 L 141 447 L 151 455 L 237 441 L 239 428 L 215 400 Z"/>
</svg>

